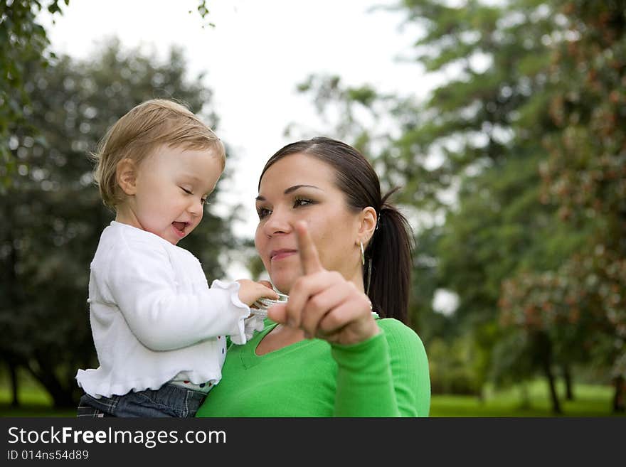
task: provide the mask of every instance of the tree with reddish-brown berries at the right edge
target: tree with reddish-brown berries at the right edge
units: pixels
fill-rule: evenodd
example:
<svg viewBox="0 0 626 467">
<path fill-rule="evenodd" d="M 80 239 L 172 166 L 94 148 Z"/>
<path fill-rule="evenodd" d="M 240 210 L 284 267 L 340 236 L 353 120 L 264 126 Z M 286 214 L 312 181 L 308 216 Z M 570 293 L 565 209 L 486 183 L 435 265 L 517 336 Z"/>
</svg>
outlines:
<svg viewBox="0 0 626 467">
<path fill-rule="evenodd" d="M 543 137 L 549 151 L 541 166 L 543 200 L 558 208 L 568 227 L 592 228 L 585 244 L 554 274 L 506 284 L 504 313 L 519 321 L 523 308 L 538 315 L 534 321 L 553 335 L 582 343 L 596 363 L 610 367 L 612 408 L 624 412 L 626 2 L 561 5 L 566 35 L 555 45 L 549 74 L 558 82 L 550 102 L 558 132 Z M 516 294 L 524 299 L 514 305 Z"/>
</svg>

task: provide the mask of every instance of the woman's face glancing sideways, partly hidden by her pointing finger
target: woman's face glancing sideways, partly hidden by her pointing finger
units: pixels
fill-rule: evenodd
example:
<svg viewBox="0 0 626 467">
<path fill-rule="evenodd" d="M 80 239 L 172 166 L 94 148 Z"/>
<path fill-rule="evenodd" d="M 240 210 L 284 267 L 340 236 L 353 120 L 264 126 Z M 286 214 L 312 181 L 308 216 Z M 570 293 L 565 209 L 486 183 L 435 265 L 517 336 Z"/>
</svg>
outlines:
<svg viewBox="0 0 626 467">
<path fill-rule="evenodd" d="M 255 246 L 272 284 L 285 294 L 302 274 L 294 224 L 307 222 L 324 269 L 340 272 L 363 287 L 360 213 L 349 210 L 329 164 L 306 154 L 290 154 L 265 171 L 256 208 Z"/>
</svg>

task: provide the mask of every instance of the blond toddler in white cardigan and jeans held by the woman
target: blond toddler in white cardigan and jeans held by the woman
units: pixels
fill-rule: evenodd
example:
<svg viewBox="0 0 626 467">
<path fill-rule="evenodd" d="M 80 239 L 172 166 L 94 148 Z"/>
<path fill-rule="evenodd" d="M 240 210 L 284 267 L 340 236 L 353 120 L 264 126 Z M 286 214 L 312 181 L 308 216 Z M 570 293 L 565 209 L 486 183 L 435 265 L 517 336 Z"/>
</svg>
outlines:
<svg viewBox="0 0 626 467">
<path fill-rule="evenodd" d="M 250 305 L 278 298 L 248 279 L 209 287 L 198 259 L 176 246 L 202 219 L 224 146 L 186 107 L 149 100 L 111 127 L 95 156 L 116 218 L 90 267 L 100 366 L 78 370 L 78 417 L 193 417 L 220 381 L 226 336 L 245 343 L 259 324 L 246 319 Z"/>
</svg>

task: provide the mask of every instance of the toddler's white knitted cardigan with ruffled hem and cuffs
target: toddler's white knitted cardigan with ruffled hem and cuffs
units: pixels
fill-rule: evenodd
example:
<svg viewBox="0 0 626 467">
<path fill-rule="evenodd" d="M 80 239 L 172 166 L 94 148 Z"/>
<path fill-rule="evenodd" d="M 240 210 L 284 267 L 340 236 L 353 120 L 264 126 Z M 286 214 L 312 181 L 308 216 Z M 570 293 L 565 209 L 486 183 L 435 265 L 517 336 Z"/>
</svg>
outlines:
<svg viewBox="0 0 626 467">
<path fill-rule="evenodd" d="M 246 340 L 250 308 L 238 291 L 238 282 L 216 280 L 209 288 L 186 249 L 111 222 L 91 263 L 87 300 L 100 366 L 78 370 L 78 385 L 93 397 L 111 397 L 170 380 L 217 384 L 225 336 Z"/>
</svg>

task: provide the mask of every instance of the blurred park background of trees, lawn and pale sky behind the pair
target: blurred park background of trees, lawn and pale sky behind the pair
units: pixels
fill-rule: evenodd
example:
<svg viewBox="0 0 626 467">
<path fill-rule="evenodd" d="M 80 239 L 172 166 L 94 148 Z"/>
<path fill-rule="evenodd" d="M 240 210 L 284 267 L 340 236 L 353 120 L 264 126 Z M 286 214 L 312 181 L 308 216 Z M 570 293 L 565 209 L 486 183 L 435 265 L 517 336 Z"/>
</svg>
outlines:
<svg viewBox="0 0 626 467">
<path fill-rule="evenodd" d="M 228 165 L 181 246 L 266 277 L 265 161 L 319 134 L 372 161 L 415 234 L 433 417 L 623 417 L 626 1 L 0 0 L 0 414 L 75 416 L 90 151 L 186 102 Z"/>
</svg>

